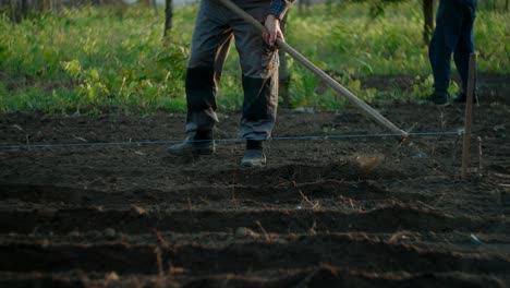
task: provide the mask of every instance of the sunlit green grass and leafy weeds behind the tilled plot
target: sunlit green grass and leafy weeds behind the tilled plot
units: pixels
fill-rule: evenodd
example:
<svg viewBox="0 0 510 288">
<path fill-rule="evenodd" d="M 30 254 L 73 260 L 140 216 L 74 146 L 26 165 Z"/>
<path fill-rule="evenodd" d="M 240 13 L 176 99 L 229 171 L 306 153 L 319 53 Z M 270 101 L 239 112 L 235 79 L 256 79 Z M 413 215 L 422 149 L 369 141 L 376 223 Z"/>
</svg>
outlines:
<svg viewBox="0 0 510 288">
<path fill-rule="evenodd" d="M 287 40 L 368 103 L 388 95 L 414 100 L 428 93 L 432 82 L 420 9 L 415 1 L 390 5 L 372 20 L 367 4 L 314 5 L 306 15 L 291 12 Z M 183 79 L 196 5 L 175 9 L 170 43 L 161 40 L 162 11 L 154 13 L 135 5 L 63 10 L 19 24 L 0 19 L 0 112 L 82 113 L 102 107 L 184 111 Z M 509 22 L 508 13 L 478 13 L 479 71 L 510 73 Z M 344 105 L 290 58 L 289 67 L 294 105 Z M 240 73 L 232 51 L 218 98 L 222 109 L 241 106 Z M 413 96 L 362 89 L 369 75 L 416 76 L 405 92 Z"/>
</svg>

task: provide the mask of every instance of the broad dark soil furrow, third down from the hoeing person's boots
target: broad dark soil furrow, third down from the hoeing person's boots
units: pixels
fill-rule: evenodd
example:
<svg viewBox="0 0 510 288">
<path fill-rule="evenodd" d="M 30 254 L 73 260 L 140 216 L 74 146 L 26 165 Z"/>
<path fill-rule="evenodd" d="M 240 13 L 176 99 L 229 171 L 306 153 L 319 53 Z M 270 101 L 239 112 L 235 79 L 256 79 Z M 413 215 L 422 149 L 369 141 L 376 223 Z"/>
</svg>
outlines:
<svg viewBox="0 0 510 288">
<path fill-rule="evenodd" d="M 320 263 L 373 273 L 463 272 L 505 276 L 510 271 L 510 259 L 498 254 L 440 252 L 335 235 L 298 237 L 291 241 L 274 239 L 232 242 L 219 247 L 195 243 L 158 248 L 123 242 L 56 245 L 45 242 L 5 242 L 0 243 L 0 256 L 10 260 L 1 262 L 0 269 L 11 272 L 81 269 L 158 274 L 158 261 L 163 271 L 168 271 L 171 263 L 173 267 L 195 275 L 303 268 Z"/>
</svg>

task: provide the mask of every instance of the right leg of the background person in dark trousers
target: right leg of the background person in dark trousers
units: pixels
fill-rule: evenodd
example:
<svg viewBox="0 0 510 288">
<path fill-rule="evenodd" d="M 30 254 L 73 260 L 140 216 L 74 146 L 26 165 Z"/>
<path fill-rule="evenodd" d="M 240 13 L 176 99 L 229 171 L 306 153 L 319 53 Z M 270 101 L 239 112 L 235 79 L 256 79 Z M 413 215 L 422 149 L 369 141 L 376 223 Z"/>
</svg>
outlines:
<svg viewBox="0 0 510 288">
<path fill-rule="evenodd" d="M 476 2 L 476 1 L 475 1 Z M 461 34 L 459 43 L 453 52 L 453 60 L 456 62 L 457 70 L 461 77 L 461 93 L 456 101 L 465 101 L 465 95 L 467 92 L 469 70 L 470 70 L 470 55 L 474 52 L 474 33 L 473 26 L 476 16 L 476 5 L 465 5 L 464 17 L 462 22 Z"/>
</svg>

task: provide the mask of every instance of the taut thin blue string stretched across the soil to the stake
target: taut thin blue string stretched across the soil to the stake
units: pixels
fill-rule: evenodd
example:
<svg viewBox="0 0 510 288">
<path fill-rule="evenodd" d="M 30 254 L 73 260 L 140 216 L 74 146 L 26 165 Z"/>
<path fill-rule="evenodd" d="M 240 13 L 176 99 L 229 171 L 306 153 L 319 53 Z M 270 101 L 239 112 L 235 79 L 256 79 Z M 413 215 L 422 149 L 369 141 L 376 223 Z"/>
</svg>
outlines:
<svg viewBox="0 0 510 288">
<path fill-rule="evenodd" d="M 439 135 L 462 135 L 464 131 L 446 132 L 414 132 L 410 136 L 439 136 Z M 361 139 L 361 137 L 390 137 L 400 136 L 398 133 L 381 134 L 340 134 L 340 135 L 303 135 L 303 136 L 276 136 L 270 141 L 292 141 L 292 140 L 335 140 L 335 139 Z M 241 142 L 243 139 L 216 139 L 215 142 Z M 175 144 L 182 140 L 166 141 L 129 141 L 129 142 L 96 142 L 96 143 L 56 143 L 56 144 L 20 144 L 20 145 L 0 145 L 0 149 L 22 149 L 22 148 L 54 148 L 54 147 L 98 147 L 98 146 L 124 146 L 124 145 L 155 145 L 155 144 Z"/>
</svg>

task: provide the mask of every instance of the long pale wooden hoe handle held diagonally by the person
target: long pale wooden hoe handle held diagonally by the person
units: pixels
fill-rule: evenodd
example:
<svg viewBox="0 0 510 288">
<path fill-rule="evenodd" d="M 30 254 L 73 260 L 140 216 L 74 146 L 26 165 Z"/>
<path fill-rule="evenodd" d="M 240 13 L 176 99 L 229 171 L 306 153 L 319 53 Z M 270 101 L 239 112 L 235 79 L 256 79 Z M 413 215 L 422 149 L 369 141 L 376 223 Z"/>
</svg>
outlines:
<svg viewBox="0 0 510 288">
<path fill-rule="evenodd" d="M 246 13 L 244 10 L 239 8 L 236 4 L 232 3 L 230 0 L 218 0 L 221 4 L 226 5 L 232 12 L 238 14 L 239 16 L 243 17 L 244 21 L 251 23 L 253 26 L 255 26 L 260 33 L 266 32 L 266 27 L 260 24 L 258 21 L 256 21 L 254 17 L 252 17 L 248 13 Z M 330 77 L 326 72 L 317 68 L 314 63 L 312 63 L 308 59 L 306 59 L 304 56 L 302 56 L 300 52 L 298 52 L 294 48 L 292 48 L 290 45 L 284 43 L 281 39 L 277 39 L 278 47 L 280 47 L 283 51 L 288 52 L 292 58 L 298 60 L 298 62 L 302 63 L 305 68 L 307 68 L 309 71 L 312 71 L 315 75 L 320 77 L 326 84 L 328 84 L 331 88 L 333 88 L 337 93 L 342 95 L 343 97 L 348 98 L 352 103 L 354 103 L 357 108 L 361 108 L 361 110 L 368 117 L 373 118 L 378 122 L 379 124 L 386 127 L 393 133 L 398 134 L 399 140 L 405 140 L 409 134 L 408 132 L 400 130 L 397 128 L 393 123 L 391 123 L 388 119 L 386 119 L 384 116 L 381 116 L 378 111 L 374 110 L 371 106 L 368 106 L 366 103 L 357 98 L 354 94 L 352 94 L 350 91 L 348 91 L 345 87 L 340 85 L 337 81 L 335 81 L 332 77 Z"/>
</svg>

